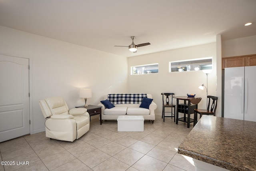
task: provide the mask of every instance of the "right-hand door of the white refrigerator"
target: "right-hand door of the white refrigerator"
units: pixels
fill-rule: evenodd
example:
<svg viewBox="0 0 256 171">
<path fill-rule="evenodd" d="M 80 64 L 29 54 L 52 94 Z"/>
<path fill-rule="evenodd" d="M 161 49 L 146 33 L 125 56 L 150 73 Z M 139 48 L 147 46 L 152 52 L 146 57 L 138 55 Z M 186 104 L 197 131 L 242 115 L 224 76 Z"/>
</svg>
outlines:
<svg viewBox="0 0 256 171">
<path fill-rule="evenodd" d="M 256 121 L 255 97 L 256 97 L 256 66 L 245 67 L 244 84 L 244 120 Z"/>
</svg>

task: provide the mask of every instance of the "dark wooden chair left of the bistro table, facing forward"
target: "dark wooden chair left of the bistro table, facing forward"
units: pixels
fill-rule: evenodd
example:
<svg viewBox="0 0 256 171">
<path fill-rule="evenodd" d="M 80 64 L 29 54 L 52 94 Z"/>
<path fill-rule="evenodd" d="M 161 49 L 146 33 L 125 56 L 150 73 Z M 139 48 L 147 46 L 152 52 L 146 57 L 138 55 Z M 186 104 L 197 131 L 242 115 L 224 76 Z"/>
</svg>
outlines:
<svg viewBox="0 0 256 171">
<path fill-rule="evenodd" d="M 173 97 L 174 93 L 161 93 L 161 94 L 162 94 L 162 99 L 163 99 L 162 118 L 164 118 L 164 117 L 174 117 L 174 122 L 175 122 L 176 105 L 173 104 L 173 102 L 172 102 L 172 97 Z M 172 96 L 172 97 L 170 97 L 171 101 L 169 100 L 169 96 Z M 171 111 L 165 111 L 166 107 L 171 107 Z M 174 112 L 172 112 L 172 108 L 174 108 Z M 171 115 L 166 116 L 165 113 L 171 113 Z"/>
</svg>

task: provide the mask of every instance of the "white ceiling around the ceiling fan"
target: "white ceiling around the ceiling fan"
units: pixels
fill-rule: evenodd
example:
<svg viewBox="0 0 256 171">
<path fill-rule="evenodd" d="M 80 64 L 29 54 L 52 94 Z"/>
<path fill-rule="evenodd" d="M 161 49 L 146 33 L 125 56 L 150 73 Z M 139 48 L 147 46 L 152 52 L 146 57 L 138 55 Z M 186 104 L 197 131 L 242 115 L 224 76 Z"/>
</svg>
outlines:
<svg viewBox="0 0 256 171">
<path fill-rule="evenodd" d="M 256 0 L 0 0 L 0 25 L 131 57 L 254 36 Z"/>
</svg>

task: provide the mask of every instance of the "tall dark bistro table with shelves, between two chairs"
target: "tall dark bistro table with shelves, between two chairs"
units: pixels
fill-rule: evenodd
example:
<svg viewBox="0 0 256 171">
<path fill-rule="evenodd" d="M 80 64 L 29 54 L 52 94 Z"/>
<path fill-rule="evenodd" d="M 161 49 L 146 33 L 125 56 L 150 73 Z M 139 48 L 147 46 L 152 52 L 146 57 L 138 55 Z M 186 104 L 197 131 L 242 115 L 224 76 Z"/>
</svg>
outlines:
<svg viewBox="0 0 256 171">
<path fill-rule="evenodd" d="M 178 121 L 186 122 L 187 127 L 189 128 L 190 123 L 194 122 L 194 119 L 190 119 L 190 114 L 194 113 L 194 109 L 197 109 L 198 103 L 202 98 L 188 96 L 174 96 L 173 98 L 177 99 L 176 124 L 178 124 Z M 179 100 L 183 100 L 184 103 L 179 103 Z M 191 105 L 191 103 L 194 105 Z M 183 113 L 184 117 L 179 118 L 179 113 Z M 188 114 L 188 117 L 186 117 L 186 114 Z"/>
</svg>

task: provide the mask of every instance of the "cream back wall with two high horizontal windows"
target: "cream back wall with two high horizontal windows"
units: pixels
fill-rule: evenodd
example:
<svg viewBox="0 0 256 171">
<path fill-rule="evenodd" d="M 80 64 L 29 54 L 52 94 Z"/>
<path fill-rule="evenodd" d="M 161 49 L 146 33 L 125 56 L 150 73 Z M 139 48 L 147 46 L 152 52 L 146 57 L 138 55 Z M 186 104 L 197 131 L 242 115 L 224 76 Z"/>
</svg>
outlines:
<svg viewBox="0 0 256 171">
<path fill-rule="evenodd" d="M 156 114 L 162 113 L 161 93 L 175 93 L 176 96 L 196 94 L 202 97 L 199 108 L 206 108 L 206 90 L 198 89 L 206 85 L 206 74 L 202 71 L 169 73 L 168 64 L 172 61 L 195 58 L 213 58 L 213 70 L 208 75 L 208 95 L 216 96 L 216 43 L 180 48 L 128 58 L 128 89 L 130 93 L 150 93 L 158 105 Z M 130 75 L 130 67 L 158 63 L 158 74 Z M 176 99 L 175 103 L 176 103 Z"/>
</svg>

